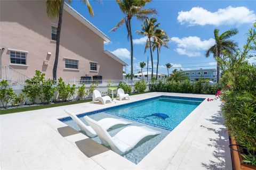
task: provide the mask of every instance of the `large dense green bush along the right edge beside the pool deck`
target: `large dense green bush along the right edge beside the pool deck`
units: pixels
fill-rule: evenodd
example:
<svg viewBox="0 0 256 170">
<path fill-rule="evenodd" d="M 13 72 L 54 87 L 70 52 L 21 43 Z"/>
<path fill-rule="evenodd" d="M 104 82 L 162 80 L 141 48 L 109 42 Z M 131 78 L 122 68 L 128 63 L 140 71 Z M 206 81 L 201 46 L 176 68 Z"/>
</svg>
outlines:
<svg viewBox="0 0 256 170">
<path fill-rule="evenodd" d="M 242 146 L 243 162 L 256 165 L 256 65 L 248 58 L 255 57 L 256 23 L 247 34 L 243 49 L 218 58 L 223 74 L 221 99 L 223 116 L 229 134 Z"/>
</svg>

